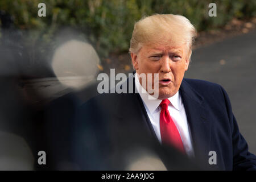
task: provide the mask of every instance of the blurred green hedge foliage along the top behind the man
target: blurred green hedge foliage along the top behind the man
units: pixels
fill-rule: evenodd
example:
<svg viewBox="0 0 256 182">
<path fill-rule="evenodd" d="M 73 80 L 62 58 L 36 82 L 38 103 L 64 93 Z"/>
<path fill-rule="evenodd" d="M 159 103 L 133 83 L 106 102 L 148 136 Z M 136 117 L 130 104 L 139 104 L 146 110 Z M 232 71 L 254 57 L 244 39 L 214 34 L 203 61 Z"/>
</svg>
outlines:
<svg viewBox="0 0 256 182">
<path fill-rule="evenodd" d="M 46 17 L 38 16 L 38 4 L 46 3 Z M 101 56 L 129 49 L 134 22 L 142 16 L 180 14 L 198 31 L 224 26 L 232 18 L 256 16 L 255 0 L 216 0 L 217 17 L 209 17 L 209 3 L 199 0 L 1 0 L 0 10 L 15 18 L 15 25 L 31 31 L 28 43 L 54 44 L 61 27 L 75 28 L 93 43 Z"/>
</svg>

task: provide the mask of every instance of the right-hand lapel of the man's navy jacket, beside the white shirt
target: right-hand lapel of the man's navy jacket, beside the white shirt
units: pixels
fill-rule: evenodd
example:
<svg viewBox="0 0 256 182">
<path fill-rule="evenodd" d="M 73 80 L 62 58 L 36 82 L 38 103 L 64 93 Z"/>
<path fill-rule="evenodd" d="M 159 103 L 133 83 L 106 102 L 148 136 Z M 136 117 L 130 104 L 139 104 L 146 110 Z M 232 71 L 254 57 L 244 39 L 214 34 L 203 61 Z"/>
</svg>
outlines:
<svg viewBox="0 0 256 182">
<path fill-rule="evenodd" d="M 195 158 L 204 160 L 203 162 L 205 163 L 210 144 L 211 123 L 209 120 L 209 111 L 204 106 L 204 98 L 192 89 L 185 79 L 181 83 L 179 92 L 181 93 L 191 130 Z"/>
</svg>

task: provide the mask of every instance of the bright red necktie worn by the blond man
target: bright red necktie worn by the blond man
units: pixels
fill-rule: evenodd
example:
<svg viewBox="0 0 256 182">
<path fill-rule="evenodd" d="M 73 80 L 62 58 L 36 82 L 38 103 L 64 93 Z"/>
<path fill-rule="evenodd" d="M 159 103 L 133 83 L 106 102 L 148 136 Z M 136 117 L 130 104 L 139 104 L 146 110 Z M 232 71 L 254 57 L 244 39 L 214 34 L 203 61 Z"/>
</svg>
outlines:
<svg viewBox="0 0 256 182">
<path fill-rule="evenodd" d="M 180 137 L 180 133 L 177 130 L 174 121 L 172 121 L 171 115 L 168 111 L 169 104 L 170 101 L 168 99 L 165 99 L 160 103 L 162 108 L 160 113 L 160 133 L 162 143 L 171 144 L 184 154 L 185 150 Z"/>
</svg>

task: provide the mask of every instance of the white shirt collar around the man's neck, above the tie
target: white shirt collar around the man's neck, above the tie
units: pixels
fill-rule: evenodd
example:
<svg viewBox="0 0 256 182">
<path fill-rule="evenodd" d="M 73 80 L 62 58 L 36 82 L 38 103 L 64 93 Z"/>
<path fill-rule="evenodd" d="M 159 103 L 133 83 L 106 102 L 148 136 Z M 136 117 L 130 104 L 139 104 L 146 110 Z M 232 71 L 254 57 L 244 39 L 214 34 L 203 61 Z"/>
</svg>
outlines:
<svg viewBox="0 0 256 182">
<path fill-rule="evenodd" d="M 142 101 L 147 106 L 147 109 L 150 111 L 150 113 L 154 113 L 154 111 L 158 108 L 162 100 L 149 99 L 152 96 L 150 96 L 150 94 L 148 94 L 139 83 L 137 73 L 135 73 L 135 88 L 137 89 L 139 95 L 142 98 Z M 169 97 L 168 100 L 171 102 L 172 106 L 175 107 L 175 109 L 180 110 L 181 98 L 179 96 L 179 92 L 177 92 L 174 96 Z"/>
</svg>

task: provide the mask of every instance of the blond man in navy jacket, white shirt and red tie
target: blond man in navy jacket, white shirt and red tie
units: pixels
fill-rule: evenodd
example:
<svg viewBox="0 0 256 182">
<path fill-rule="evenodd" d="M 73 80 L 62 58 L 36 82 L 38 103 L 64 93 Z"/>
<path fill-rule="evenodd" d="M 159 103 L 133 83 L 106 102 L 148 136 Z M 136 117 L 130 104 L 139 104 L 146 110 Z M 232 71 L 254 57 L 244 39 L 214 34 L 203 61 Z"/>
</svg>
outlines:
<svg viewBox="0 0 256 182">
<path fill-rule="evenodd" d="M 195 36 L 195 27 L 180 15 L 135 23 L 135 72 L 121 86 L 133 85 L 133 92 L 100 94 L 81 106 L 73 148 L 82 169 L 126 169 L 129 152 L 142 147 L 167 169 L 256 170 L 225 90 L 183 78 Z"/>
</svg>

